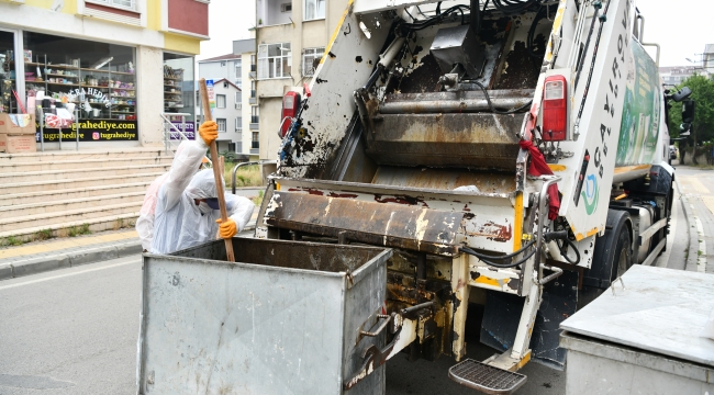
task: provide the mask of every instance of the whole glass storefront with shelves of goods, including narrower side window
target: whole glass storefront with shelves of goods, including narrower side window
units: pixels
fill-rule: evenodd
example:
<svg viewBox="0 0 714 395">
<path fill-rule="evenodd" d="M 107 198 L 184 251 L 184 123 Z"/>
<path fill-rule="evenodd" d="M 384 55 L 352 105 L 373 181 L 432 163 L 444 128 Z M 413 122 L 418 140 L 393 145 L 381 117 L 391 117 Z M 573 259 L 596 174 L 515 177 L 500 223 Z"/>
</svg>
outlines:
<svg viewBox="0 0 714 395">
<path fill-rule="evenodd" d="M 163 79 L 140 87 L 135 47 L 0 27 L 0 113 L 36 114 L 35 139 L 52 148 L 60 139 L 140 142 L 141 117 L 158 119 L 150 110 L 161 106 L 164 120 L 193 139 L 193 63 L 192 55 L 164 52 Z M 161 102 L 142 105 L 142 89 Z"/>
</svg>

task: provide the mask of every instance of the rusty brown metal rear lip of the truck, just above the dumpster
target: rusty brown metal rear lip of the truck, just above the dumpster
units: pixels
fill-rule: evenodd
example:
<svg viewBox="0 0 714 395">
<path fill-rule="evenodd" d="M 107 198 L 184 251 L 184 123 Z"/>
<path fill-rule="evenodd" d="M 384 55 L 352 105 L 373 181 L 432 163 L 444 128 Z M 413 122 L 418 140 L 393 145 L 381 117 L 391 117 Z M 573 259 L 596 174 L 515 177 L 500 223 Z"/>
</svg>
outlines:
<svg viewBox="0 0 714 395">
<path fill-rule="evenodd" d="M 375 196 L 375 202 L 349 198 L 276 192 L 266 223 L 332 237 L 344 232 L 353 241 L 454 255 L 464 213 L 432 210 L 410 202 L 382 204 L 379 196 Z M 398 199 L 394 198 L 394 203 L 399 203 Z"/>
</svg>

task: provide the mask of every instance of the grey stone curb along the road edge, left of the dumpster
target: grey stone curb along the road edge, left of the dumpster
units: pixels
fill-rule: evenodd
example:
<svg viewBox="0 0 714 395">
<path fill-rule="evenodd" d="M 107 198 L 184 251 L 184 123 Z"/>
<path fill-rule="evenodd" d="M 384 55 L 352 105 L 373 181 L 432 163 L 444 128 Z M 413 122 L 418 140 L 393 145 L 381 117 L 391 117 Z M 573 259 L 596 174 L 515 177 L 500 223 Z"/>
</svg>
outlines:
<svg viewBox="0 0 714 395">
<path fill-rule="evenodd" d="M 0 281 L 123 258 L 135 253 L 142 253 L 142 242 L 138 239 L 114 246 L 30 258 L 0 267 Z"/>
</svg>

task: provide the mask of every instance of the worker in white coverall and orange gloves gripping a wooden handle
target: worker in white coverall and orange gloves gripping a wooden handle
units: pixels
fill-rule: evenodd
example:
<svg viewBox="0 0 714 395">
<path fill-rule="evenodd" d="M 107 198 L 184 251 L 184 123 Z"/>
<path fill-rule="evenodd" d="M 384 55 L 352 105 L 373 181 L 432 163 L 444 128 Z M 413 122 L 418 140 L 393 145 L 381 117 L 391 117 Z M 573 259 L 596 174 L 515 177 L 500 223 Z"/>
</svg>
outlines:
<svg viewBox="0 0 714 395">
<path fill-rule="evenodd" d="M 170 253 L 215 239 L 232 238 L 245 228 L 255 205 L 248 199 L 225 194 L 228 218 L 221 222 L 215 179 L 212 169 L 193 174 L 203 153 L 217 137 L 215 122 L 199 127 L 200 139 L 187 144 L 177 154 L 160 187 L 154 221 L 150 252 Z"/>
</svg>

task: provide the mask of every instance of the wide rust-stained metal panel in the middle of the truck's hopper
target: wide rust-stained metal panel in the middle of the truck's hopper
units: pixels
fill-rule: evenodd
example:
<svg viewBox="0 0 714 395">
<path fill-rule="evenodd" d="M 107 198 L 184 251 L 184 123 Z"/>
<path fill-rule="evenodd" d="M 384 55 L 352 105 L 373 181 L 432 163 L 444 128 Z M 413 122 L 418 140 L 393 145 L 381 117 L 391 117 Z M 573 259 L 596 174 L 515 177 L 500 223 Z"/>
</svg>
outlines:
<svg viewBox="0 0 714 395">
<path fill-rule="evenodd" d="M 382 114 L 367 133 L 380 165 L 515 170 L 524 114 Z"/>
</svg>

